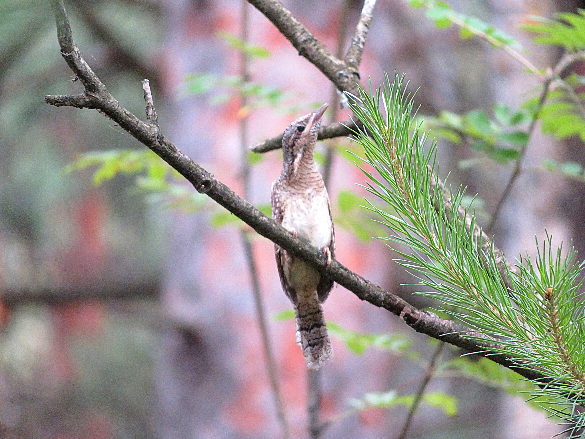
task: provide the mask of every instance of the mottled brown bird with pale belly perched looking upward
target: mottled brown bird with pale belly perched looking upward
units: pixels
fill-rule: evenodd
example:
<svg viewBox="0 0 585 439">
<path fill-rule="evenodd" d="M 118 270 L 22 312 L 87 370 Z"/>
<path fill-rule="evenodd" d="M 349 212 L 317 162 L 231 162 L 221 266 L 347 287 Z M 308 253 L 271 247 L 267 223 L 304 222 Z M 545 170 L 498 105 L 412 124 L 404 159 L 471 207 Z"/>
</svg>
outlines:
<svg viewBox="0 0 585 439">
<path fill-rule="evenodd" d="M 272 217 L 292 235 L 307 239 L 335 258 L 335 230 L 323 177 L 315 164 L 315 144 L 328 105 L 296 119 L 283 134 L 283 169 L 272 185 Z M 304 260 L 274 245 L 278 275 L 295 311 L 297 344 L 307 368 L 319 369 L 333 358 L 322 303 L 333 281 Z"/>
</svg>

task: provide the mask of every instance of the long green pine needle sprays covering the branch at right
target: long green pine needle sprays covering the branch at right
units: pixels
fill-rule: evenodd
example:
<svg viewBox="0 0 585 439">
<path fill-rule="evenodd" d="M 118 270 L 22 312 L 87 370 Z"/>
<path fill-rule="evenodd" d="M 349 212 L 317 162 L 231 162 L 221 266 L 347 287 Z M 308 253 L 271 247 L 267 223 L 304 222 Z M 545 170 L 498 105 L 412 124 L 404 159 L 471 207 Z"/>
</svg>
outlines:
<svg viewBox="0 0 585 439">
<path fill-rule="evenodd" d="M 438 179 L 436 144 L 415 125 L 412 95 L 404 77 L 378 90 L 350 96 L 363 122 L 354 138 L 364 148 L 367 190 L 390 205 L 369 208 L 390 233 L 380 238 L 415 273 L 425 296 L 438 299 L 450 315 L 493 338 L 521 368 L 538 368 L 531 399 L 546 400 L 551 415 L 566 421 L 570 437 L 583 437 L 585 414 L 585 325 L 580 300 L 581 269 L 572 246 L 539 243 L 535 256 L 519 257 L 515 270 L 498 272 L 493 246 L 474 232 L 473 212 L 459 208 L 465 190 Z M 501 264 L 500 264 L 501 265 Z M 501 269 L 501 267 L 500 267 Z M 552 408 L 550 403 L 554 402 Z"/>
</svg>

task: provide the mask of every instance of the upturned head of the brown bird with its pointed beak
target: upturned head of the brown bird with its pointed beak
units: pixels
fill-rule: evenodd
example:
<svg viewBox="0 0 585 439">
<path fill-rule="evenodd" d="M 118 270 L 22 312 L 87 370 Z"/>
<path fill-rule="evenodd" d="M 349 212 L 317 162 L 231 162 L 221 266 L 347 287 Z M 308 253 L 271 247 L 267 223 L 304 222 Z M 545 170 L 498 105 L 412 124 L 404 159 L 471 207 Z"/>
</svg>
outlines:
<svg viewBox="0 0 585 439">
<path fill-rule="evenodd" d="M 288 125 L 283 135 L 283 158 L 285 166 L 298 166 L 303 153 L 312 155 L 317 142 L 317 132 L 321 126 L 321 118 L 328 105 L 323 104 L 314 113 L 301 116 Z"/>
</svg>

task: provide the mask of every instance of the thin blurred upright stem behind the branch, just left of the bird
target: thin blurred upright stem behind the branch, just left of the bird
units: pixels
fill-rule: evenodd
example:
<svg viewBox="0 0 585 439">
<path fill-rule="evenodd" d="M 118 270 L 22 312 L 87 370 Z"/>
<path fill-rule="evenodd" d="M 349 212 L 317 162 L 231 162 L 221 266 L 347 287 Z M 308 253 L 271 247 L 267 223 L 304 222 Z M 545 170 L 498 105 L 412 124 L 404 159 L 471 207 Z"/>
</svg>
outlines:
<svg viewBox="0 0 585 439">
<path fill-rule="evenodd" d="M 241 38 L 242 41 L 248 42 L 249 35 L 249 5 L 247 0 L 242 0 L 242 18 L 241 18 Z M 249 56 L 246 50 L 242 50 L 240 53 L 240 74 L 244 83 L 250 81 L 250 70 L 249 70 Z M 240 94 L 240 104 L 243 107 L 247 105 L 247 97 L 245 94 Z M 240 119 L 240 148 L 242 150 L 242 167 L 240 169 L 240 179 L 242 181 L 243 195 L 246 200 L 250 198 L 250 163 L 248 161 L 248 148 L 247 148 L 247 115 L 244 114 Z M 266 310 L 264 308 L 264 300 L 262 297 L 262 290 L 260 287 L 260 279 L 258 276 L 258 269 L 256 266 L 256 259 L 254 258 L 254 252 L 252 249 L 252 242 L 250 236 L 245 231 L 240 232 L 242 238 L 242 246 L 246 255 L 246 261 L 250 272 L 250 281 L 252 283 L 252 291 L 254 294 L 254 306 L 256 308 L 256 317 L 260 332 L 262 336 L 262 347 L 264 349 L 264 356 L 266 357 L 266 369 L 268 372 L 270 387 L 274 399 L 274 405 L 276 406 L 276 417 L 280 428 L 283 432 L 284 439 L 290 439 L 290 428 L 288 428 L 288 422 L 286 413 L 284 411 L 283 397 L 280 390 L 280 384 L 278 383 L 278 373 L 276 360 L 274 358 L 274 352 L 270 341 L 270 333 L 268 328 L 268 322 L 266 318 Z"/>
</svg>

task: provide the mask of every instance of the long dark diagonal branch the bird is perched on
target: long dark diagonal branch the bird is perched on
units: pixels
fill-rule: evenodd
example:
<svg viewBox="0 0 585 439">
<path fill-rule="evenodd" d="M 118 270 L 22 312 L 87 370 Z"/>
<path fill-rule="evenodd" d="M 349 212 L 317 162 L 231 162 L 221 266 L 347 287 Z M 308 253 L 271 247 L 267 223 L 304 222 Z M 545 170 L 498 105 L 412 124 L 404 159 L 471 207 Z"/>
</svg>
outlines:
<svg viewBox="0 0 585 439">
<path fill-rule="evenodd" d="M 450 320 L 443 320 L 429 311 L 419 310 L 408 304 L 401 297 L 383 290 L 357 275 L 336 260 L 328 263 L 326 256 L 319 249 L 304 239 L 293 236 L 287 229 L 268 218 L 260 210 L 239 197 L 229 187 L 215 179 L 207 170 L 184 155 L 161 133 L 156 124 L 140 121 L 135 115 L 123 108 L 109 93 L 90 66 L 82 58 L 75 46 L 69 20 L 63 6 L 63 0 L 50 0 L 51 8 L 57 23 L 57 38 L 61 46 L 61 54 L 73 73 L 84 85 L 84 92 L 77 96 L 47 96 L 45 101 L 52 105 L 77 108 L 95 108 L 108 116 L 113 122 L 125 129 L 130 135 L 146 145 L 161 159 L 183 175 L 199 191 L 207 194 L 218 204 L 242 219 L 258 234 L 280 245 L 288 252 L 305 260 L 320 273 L 328 276 L 347 290 L 352 291 L 361 300 L 384 308 L 398 315 L 411 328 L 429 337 L 437 338 L 449 344 L 478 352 L 494 362 L 500 363 L 530 380 L 548 382 L 548 378 L 536 368 L 519 367 L 514 358 L 504 354 L 493 354 L 486 349 L 500 348 L 497 342 L 485 335 L 473 332 L 469 328 Z M 485 341 L 475 341 L 468 337 L 480 337 Z"/>
</svg>

